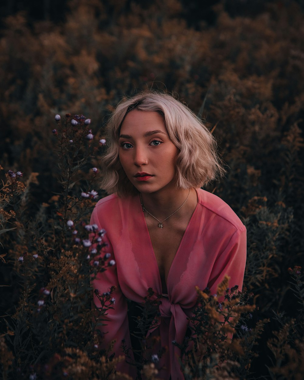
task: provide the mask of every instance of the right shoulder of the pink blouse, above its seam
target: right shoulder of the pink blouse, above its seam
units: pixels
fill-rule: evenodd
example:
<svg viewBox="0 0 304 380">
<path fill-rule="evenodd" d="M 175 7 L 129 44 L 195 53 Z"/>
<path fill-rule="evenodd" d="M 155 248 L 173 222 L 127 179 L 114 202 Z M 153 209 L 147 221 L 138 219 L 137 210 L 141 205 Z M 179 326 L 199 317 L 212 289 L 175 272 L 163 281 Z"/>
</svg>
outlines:
<svg viewBox="0 0 304 380">
<path fill-rule="evenodd" d="M 197 189 L 197 194 L 198 203 L 208 210 L 213 218 L 216 216 L 217 220 L 220 219 L 222 222 L 230 223 L 236 230 L 239 228 L 245 229 L 241 219 L 223 199 L 201 188 Z"/>
</svg>

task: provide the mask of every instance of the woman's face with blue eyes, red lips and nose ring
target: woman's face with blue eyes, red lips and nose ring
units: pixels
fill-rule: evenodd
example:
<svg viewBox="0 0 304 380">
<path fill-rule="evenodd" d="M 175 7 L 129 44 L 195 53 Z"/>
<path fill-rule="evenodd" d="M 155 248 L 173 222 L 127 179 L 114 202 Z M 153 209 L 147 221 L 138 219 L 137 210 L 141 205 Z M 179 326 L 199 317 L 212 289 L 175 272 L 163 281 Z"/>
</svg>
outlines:
<svg viewBox="0 0 304 380">
<path fill-rule="evenodd" d="M 127 114 L 120 128 L 119 159 L 139 192 L 175 187 L 177 152 L 158 112 L 135 109 Z"/>
</svg>

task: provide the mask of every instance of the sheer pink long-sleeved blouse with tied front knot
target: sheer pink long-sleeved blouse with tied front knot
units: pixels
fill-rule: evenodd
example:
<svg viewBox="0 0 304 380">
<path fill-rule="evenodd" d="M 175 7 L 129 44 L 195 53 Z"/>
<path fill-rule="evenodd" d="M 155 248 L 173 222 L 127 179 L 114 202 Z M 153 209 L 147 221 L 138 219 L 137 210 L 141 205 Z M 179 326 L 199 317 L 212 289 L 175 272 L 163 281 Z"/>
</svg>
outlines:
<svg viewBox="0 0 304 380">
<path fill-rule="evenodd" d="M 246 228 L 222 199 L 202 189 L 196 189 L 198 204 L 185 230 L 182 241 L 171 264 L 167 278 L 168 298 L 162 298 L 159 325 L 153 334 L 160 335 L 161 346 L 168 347 L 157 367 L 158 377 L 183 380 L 178 358 L 180 351 L 175 340 L 182 344 L 187 317 L 196 302 L 195 286 L 209 287 L 216 293 L 224 275 L 231 277 L 229 285 L 242 287 L 246 262 Z M 142 303 L 148 288 L 161 294 L 161 279 L 139 195 L 119 198 L 109 195 L 96 204 L 90 224 L 96 223 L 106 230 L 103 240 L 108 243 L 105 252 L 111 253 L 116 266 L 98 273 L 93 288 L 101 293 L 116 286 L 114 310 L 109 310 L 104 345 L 116 339 L 114 352 L 123 355 L 122 339 L 128 347 L 126 298 Z M 164 234 L 170 231 L 163 229 Z M 99 301 L 95 298 L 99 307 Z M 150 331 L 151 332 L 151 331 Z M 127 363 L 119 366 L 122 372 L 134 375 Z M 161 369 L 163 368 L 163 369 Z"/>
</svg>

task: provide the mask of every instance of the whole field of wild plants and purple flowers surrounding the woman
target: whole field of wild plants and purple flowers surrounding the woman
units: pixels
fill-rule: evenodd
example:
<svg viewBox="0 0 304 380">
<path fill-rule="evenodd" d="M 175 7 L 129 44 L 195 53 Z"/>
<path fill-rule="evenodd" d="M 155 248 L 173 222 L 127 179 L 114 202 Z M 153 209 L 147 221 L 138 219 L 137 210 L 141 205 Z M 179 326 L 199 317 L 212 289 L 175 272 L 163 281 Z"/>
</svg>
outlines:
<svg viewBox="0 0 304 380">
<path fill-rule="evenodd" d="M 120 378 L 124 358 L 94 334 L 115 300 L 114 289 L 99 294 L 93 317 L 90 276 L 115 263 L 93 260 L 88 235 L 103 232 L 89 218 L 106 195 L 106 121 L 122 97 L 152 88 L 213 131 L 227 174 L 206 190 L 247 228 L 243 291 L 225 279 L 219 303 L 193 289 L 185 380 L 302 380 L 304 9 L 265 2 L 249 16 L 229 4 L 214 6 L 210 25 L 192 25 L 179 0 L 70 0 L 64 21 L 2 19 L 0 379 Z M 147 289 L 136 318 L 138 379 L 157 379 L 161 352 L 143 338 L 158 302 Z"/>
</svg>

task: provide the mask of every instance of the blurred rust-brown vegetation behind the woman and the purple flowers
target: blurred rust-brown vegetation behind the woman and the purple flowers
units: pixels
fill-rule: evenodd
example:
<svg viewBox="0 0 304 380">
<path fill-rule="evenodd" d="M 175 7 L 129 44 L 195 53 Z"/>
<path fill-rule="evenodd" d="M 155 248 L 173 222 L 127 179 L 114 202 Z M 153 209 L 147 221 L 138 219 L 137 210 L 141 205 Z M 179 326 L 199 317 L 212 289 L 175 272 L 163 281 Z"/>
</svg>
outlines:
<svg viewBox="0 0 304 380">
<path fill-rule="evenodd" d="M 303 266 L 303 6 L 300 0 L 0 5 L 0 164 L 38 179 L 28 218 L 60 191 L 51 133 L 57 113 L 90 117 L 102 138 L 124 95 L 154 88 L 174 93 L 210 129 L 216 125 L 228 173 L 207 190 L 247 226 L 244 286 L 259 307 L 255 318 L 270 318 L 256 347 L 254 378 L 269 376 L 266 365 L 291 365 L 286 352 L 280 363 L 274 359 L 266 342 L 300 315 L 288 268 Z M 2 240 L 10 256 L 0 278 L 11 285 L 21 247 Z M 1 307 L 14 313 L 19 288 L 5 289 Z M 299 373 L 300 359 L 297 365 L 289 378 Z"/>
</svg>

